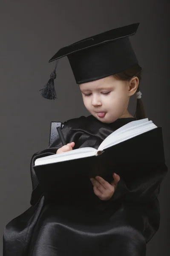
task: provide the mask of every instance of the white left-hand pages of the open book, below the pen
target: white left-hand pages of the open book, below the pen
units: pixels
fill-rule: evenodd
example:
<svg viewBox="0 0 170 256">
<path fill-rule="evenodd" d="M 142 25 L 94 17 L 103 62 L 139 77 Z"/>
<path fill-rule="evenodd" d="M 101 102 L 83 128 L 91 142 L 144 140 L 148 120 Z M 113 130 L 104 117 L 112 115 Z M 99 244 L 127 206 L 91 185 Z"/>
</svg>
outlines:
<svg viewBox="0 0 170 256">
<path fill-rule="evenodd" d="M 35 160 L 35 166 L 47 164 L 47 163 L 56 163 L 56 162 L 62 162 L 62 161 L 71 160 L 71 159 L 89 157 L 89 156 L 95 155 L 95 153 L 96 153 L 95 148 L 90 148 L 90 147 L 77 148 L 74 150 L 63 152 L 61 154 L 53 154 L 47 157 L 37 158 Z"/>
</svg>

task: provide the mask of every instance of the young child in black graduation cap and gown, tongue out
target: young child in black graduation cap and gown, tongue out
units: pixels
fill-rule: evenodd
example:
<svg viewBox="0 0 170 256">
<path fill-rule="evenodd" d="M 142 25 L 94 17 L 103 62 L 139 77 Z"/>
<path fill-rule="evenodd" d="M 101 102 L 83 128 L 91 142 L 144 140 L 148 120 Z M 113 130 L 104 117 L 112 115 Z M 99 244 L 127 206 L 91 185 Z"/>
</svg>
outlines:
<svg viewBox="0 0 170 256">
<path fill-rule="evenodd" d="M 86 38 L 60 49 L 50 60 L 57 60 L 56 70 L 58 59 L 67 55 L 90 115 L 64 122 L 62 132 L 67 145 L 62 146 L 56 138 L 49 148 L 32 156 L 32 206 L 6 225 L 3 256 L 146 255 L 146 244 L 159 227 L 157 197 L 167 173 L 165 164 L 157 161 L 146 164 L 141 159 L 135 165 L 135 148 L 130 148 L 132 164 L 124 166 L 124 171 L 134 169 L 138 178 L 131 177 L 132 182 L 126 184 L 114 169 L 111 183 L 102 177 L 89 180 L 94 191 L 89 201 L 84 199 L 86 191 L 77 191 L 82 195 L 81 200 L 69 191 L 55 195 L 57 203 L 46 201 L 33 168 L 40 157 L 82 147 L 97 149 L 122 125 L 146 117 L 139 90 L 142 70 L 129 41 L 138 25 Z M 46 99 L 56 98 L 55 70 L 42 90 Z M 127 110 L 134 94 L 137 96 L 135 117 Z M 143 175 L 146 170 L 147 177 Z"/>
</svg>

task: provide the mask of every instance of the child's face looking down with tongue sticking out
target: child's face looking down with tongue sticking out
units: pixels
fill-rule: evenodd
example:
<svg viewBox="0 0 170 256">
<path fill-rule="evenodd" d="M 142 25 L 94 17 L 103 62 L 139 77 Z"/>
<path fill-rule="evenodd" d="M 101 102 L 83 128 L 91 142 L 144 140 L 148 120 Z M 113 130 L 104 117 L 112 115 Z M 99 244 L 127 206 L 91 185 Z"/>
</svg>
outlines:
<svg viewBox="0 0 170 256">
<path fill-rule="evenodd" d="M 128 115 L 129 81 L 114 76 L 79 84 L 86 109 L 101 122 L 110 123 Z M 103 117 L 98 112 L 104 112 Z M 102 115 L 102 114 L 101 114 Z"/>
</svg>

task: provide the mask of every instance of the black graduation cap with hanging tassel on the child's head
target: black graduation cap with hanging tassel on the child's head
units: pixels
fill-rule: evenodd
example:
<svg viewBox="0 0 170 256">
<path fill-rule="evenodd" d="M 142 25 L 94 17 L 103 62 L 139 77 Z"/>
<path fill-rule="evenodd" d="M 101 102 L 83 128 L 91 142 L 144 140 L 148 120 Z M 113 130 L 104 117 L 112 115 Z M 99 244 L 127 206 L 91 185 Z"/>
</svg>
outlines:
<svg viewBox="0 0 170 256">
<path fill-rule="evenodd" d="M 56 99 L 54 79 L 60 58 L 67 56 L 77 84 L 114 75 L 138 63 L 129 36 L 134 35 L 139 23 L 122 26 L 78 41 L 59 51 L 49 60 L 55 69 L 43 87 L 41 95 Z"/>
</svg>

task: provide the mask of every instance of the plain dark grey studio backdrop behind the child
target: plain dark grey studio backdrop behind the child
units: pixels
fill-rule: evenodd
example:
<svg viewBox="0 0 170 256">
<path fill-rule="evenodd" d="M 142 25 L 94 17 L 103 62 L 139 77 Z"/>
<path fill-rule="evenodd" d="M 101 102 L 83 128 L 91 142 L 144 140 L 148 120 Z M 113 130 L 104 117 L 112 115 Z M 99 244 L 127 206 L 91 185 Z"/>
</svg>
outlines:
<svg viewBox="0 0 170 256">
<path fill-rule="evenodd" d="M 50 101 L 39 90 L 61 47 L 86 37 L 140 22 L 131 37 L 144 69 L 141 92 L 147 117 L 161 125 L 170 166 L 168 1 L 141 0 L 0 0 L 0 236 L 5 225 L 30 207 L 30 160 L 49 145 L 51 121 L 87 116 L 67 58 L 59 61 Z M 135 113 L 135 99 L 130 101 Z M 147 244 L 147 256 L 168 256 L 170 250 L 170 173 L 159 195 L 161 224 Z M 2 239 L 0 239 L 2 254 Z"/>
</svg>

